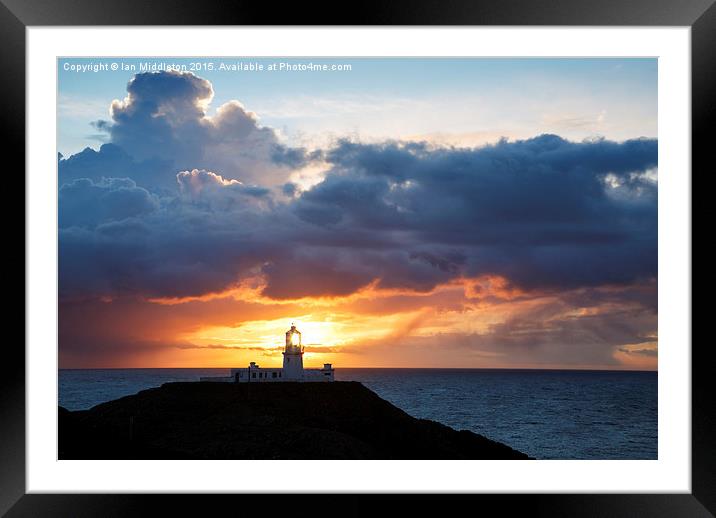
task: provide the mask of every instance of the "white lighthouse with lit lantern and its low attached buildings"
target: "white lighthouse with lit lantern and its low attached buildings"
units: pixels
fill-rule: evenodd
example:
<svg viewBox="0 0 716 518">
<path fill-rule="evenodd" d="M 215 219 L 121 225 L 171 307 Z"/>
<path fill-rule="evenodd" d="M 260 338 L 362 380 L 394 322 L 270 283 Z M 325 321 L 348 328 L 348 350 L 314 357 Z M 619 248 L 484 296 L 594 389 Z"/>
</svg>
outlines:
<svg viewBox="0 0 716 518">
<path fill-rule="evenodd" d="M 303 343 L 301 332 L 291 324 L 286 331 L 286 345 L 283 350 L 283 368 L 263 368 L 256 362 L 248 367 L 231 369 L 231 376 L 201 377 L 200 381 L 218 381 L 227 383 L 266 383 L 278 381 L 333 381 L 334 369 L 330 363 L 324 363 L 322 369 L 303 368 Z"/>
</svg>

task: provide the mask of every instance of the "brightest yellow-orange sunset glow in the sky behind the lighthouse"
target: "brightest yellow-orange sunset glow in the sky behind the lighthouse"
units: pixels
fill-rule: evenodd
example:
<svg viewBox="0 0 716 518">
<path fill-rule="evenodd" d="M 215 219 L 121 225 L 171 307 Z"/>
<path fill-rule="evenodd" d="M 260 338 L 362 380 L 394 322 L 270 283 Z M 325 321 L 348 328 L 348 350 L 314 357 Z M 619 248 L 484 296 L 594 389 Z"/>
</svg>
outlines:
<svg viewBox="0 0 716 518">
<path fill-rule="evenodd" d="M 294 301 L 272 301 L 260 293 L 256 287 L 260 285 L 242 288 L 241 299 L 232 293 L 204 300 L 150 304 L 167 312 L 186 305 L 186 311 L 194 314 L 196 320 L 194 326 L 176 330 L 176 341 L 188 344 L 182 354 L 211 358 L 212 363 L 220 358 L 222 366 L 253 360 L 267 366 L 279 365 L 285 346 L 284 333 L 292 323 L 302 333 L 307 365 L 332 362 L 344 367 L 376 366 L 376 358 L 402 365 L 400 362 L 410 363 L 418 356 L 423 362 L 437 365 L 443 361 L 443 355 L 449 357 L 447 344 L 461 343 L 460 347 L 465 348 L 461 354 L 472 355 L 474 365 L 471 365 L 494 366 L 501 353 L 489 341 L 491 338 L 485 337 L 495 332 L 509 333 L 514 342 L 522 339 L 528 326 L 539 328 L 541 333 L 554 333 L 556 329 L 569 329 L 577 319 L 608 318 L 611 313 L 631 310 L 628 304 L 611 301 L 599 305 L 565 304 L 562 301 L 565 294 L 537 291 L 528 294 L 497 276 L 456 279 L 426 293 L 372 286 L 348 297 Z M 615 289 L 604 287 L 599 291 L 611 295 Z M 580 293 L 576 290 L 570 296 L 579 298 Z M 206 320 L 197 313 L 205 305 L 207 311 L 210 307 L 216 310 Z M 297 312 L 302 309 L 305 312 Z M 261 318 L 267 314 L 271 317 Z M 540 316 L 534 320 L 533 315 Z M 462 338 L 456 341 L 458 335 Z M 297 339 L 293 335 L 292 343 L 297 344 Z M 399 353 L 404 347 L 414 351 L 420 347 L 421 352 L 404 356 Z M 613 359 L 619 364 L 655 364 L 655 354 L 641 350 L 625 352 L 617 347 Z M 513 348 L 514 351 L 519 349 Z"/>
</svg>

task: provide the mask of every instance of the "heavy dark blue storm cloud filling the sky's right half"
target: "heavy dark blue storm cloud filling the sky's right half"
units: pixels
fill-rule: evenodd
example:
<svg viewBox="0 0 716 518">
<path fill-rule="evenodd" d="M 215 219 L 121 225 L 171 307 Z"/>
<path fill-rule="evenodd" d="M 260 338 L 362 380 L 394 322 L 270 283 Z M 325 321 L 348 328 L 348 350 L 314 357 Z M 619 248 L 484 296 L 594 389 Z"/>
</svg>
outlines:
<svg viewBox="0 0 716 518">
<path fill-rule="evenodd" d="M 316 226 L 458 248 L 463 273 L 526 287 L 656 275 L 656 184 L 645 174 L 656 167 L 655 140 L 542 135 L 478 149 L 342 142 L 327 156 L 331 172 L 293 205 Z"/>
</svg>

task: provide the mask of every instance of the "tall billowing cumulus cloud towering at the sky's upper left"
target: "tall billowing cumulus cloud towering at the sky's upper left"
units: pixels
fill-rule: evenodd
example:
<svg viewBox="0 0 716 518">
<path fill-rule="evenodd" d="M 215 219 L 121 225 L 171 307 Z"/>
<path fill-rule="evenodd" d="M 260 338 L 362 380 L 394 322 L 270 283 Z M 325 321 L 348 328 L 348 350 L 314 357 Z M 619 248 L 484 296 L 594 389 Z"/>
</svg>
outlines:
<svg viewBox="0 0 716 518">
<path fill-rule="evenodd" d="M 209 81 L 190 72 L 136 74 L 127 96 L 111 104 L 111 121 L 96 121 L 111 142 L 137 161 L 162 161 L 151 185 L 166 186 L 180 170 L 219 170 L 230 179 L 273 186 L 304 160 L 289 150 L 275 131 L 259 124 L 255 113 L 232 100 L 210 113 L 214 90 Z M 281 151 L 283 150 L 283 151 Z M 149 183 L 147 183 L 149 185 Z"/>
</svg>

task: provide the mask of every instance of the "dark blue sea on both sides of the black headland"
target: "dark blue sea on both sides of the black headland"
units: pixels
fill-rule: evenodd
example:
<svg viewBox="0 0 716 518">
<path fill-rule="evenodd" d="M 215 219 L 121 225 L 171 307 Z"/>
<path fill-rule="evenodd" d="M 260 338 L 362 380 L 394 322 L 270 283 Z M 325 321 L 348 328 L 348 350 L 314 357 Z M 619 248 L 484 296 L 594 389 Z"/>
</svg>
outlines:
<svg viewBox="0 0 716 518">
<path fill-rule="evenodd" d="M 70 410 L 228 369 L 60 370 Z M 336 369 L 408 414 L 471 430 L 538 459 L 656 459 L 657 373 Z"/>
</svg>

